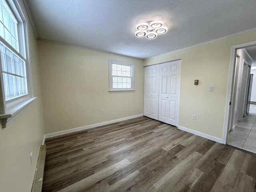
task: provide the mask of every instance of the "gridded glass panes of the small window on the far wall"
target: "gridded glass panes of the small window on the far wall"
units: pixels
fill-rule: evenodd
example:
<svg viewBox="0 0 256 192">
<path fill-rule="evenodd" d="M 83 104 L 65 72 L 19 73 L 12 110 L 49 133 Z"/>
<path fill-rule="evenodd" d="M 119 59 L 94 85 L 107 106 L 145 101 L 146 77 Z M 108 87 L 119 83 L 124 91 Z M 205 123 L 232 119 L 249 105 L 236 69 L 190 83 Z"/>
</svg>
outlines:
<svg viewBox="0 0 256 192">
<path fill-rule="evenodd" d="M 112 62 L 112 88 L 130 89 L 132 83 L 132 65 Z"/>
</svg>

